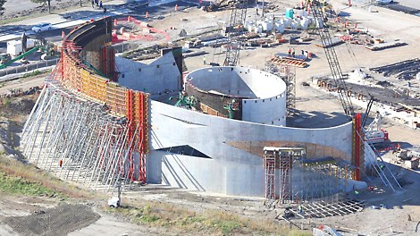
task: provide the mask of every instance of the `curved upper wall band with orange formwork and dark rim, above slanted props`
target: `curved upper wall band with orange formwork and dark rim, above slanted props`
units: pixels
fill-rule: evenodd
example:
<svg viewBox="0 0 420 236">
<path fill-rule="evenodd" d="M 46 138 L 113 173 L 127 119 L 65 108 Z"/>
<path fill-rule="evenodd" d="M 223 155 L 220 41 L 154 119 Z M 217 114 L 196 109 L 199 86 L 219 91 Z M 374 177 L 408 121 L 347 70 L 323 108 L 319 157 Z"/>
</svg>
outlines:
<svg viewBox="0 0 420 236">
<path fill-rule="evenodd" d="M 148 104 L 149 95 L 144 92 L 127 89 L 90 69 L 80 58 L 84 47 L 91 47 L 97 38 L 102 37 L 102 46 L 109 44 L 111 21 L 103 19 L 88 21 L 72 30 L 63 40 L 62 58 L 52 74 L 65 88 L 80 97 L 106 105 L 111 114 L 127 117 L 133 125 L 138 125 L 141 132 L 138 139 L 142 142 L 144 154 L 148 152 Z M 105 58 L 102 58 L 105 60 Z"/>
</svg>

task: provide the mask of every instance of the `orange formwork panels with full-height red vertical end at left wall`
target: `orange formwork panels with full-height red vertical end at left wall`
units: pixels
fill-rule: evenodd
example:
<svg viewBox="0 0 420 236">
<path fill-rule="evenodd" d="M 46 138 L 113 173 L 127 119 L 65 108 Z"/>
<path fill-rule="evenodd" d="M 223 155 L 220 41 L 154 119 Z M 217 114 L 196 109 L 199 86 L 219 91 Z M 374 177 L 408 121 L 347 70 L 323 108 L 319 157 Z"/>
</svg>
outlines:
<svg viewBox="0 0 420 236">
<path fill-rule="evenodd" d="M 78 33 L 73 30 L 67 36 Z M 83 32 L 81 32 L 83 33 Z M 148 153 L 148 112 L 149 95 L 140 91 L 124 88 L 118 83 L 102 77 L 89 70 L 80 60 L 82 50 L 72 41 L 63 40 L 62 58 L 58 69 L 51 74 L 62 86 L 89 100 L 104 104 L 110 114 L 127 118 L 130 125 L 129 139 L 130 158 L 135 158 L 134 153 L 139 153 L 139 173 L 134 173 L 134 166 L 130 166 L 130 178 L 135 181 L 146 182 L 146 154 Z M 104 53 L 104 52 L 103 52 Z M 110 65 L 114 66 L 114 65 Z M 113 69 L 105 69 L 112 73 Z M 113 79 L 113 78 L 111 78 Z M 133 164 L 136 162 L 132 162 Z M 139 176 L 139 177 L 137 177 Z"/>
</svg>

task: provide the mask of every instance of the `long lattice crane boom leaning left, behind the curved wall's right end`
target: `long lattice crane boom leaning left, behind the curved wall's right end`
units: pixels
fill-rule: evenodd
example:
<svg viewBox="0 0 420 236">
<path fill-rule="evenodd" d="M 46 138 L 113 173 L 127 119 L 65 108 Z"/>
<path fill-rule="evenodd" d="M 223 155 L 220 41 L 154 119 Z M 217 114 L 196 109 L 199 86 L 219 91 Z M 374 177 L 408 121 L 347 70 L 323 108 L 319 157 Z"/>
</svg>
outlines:
<svg viewBox="0 0 420 236">
<path fill-rule="evenodd" d="M 355 114 L 353 104 L 349 96 L 347 96 L 347 85 L 344 80 L 344 76 L 341 72 L 341 67 L 337 54 L 332 46 L 332 37 L 328 29 L 326 29 L 325 22 L 328 21 L 323 14 L 323 3 L 318 0 L 307 0 L 307 7 L 311 9 L 312 14 L 314 15 L 315 21 L 317 23 L 317 30 L 319 36 L 321 37 L 321 42 L 323 44 L 323 51 L 327 58 L 330 70 L 332 72 L 332 79 L 334 80 L 335 86 L 337 87 L 337 92 L 340 97 L 341 105 L 344 109 L 344 114 L 351 120 Z"/>
</svg>

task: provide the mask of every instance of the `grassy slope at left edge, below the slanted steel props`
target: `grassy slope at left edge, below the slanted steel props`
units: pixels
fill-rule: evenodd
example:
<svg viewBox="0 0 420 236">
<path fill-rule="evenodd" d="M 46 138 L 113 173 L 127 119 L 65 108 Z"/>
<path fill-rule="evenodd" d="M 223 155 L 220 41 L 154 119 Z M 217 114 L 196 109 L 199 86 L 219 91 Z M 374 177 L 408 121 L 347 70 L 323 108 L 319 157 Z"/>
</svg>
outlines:
<svg viewBox="0 0 420 236">
<path fill-rule="evenodd" d="M 31 164 L 0 156 L 0 191 L 13 195 L 92 198 L 85 190 L 61 181 Z"/>
</svg>

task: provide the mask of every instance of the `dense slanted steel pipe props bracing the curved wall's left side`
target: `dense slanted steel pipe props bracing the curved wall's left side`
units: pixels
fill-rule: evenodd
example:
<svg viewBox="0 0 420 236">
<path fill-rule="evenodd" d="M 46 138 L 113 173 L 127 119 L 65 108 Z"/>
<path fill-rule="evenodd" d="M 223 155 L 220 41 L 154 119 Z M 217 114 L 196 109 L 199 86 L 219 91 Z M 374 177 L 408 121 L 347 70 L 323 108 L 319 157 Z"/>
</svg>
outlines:
<svg viewBox="0 0 420 236">
<path fill-rule="evenodd" d="M 140 128 L 107 109 L 47 82 L 23 128 L 22 153 L 62 180 L 95 190 L 130 188 L 144 171 Z"/>
</svg>

